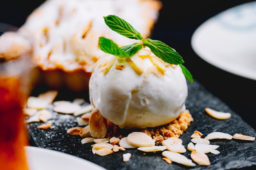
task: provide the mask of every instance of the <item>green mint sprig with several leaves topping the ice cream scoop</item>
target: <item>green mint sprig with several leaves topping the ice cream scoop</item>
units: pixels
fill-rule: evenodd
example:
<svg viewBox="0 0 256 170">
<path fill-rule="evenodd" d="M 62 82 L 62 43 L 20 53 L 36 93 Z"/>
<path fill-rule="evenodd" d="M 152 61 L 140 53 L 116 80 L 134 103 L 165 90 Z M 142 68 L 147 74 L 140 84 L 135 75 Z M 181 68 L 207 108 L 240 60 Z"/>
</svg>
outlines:
<svg viewBox="0 0 256 170">
<path fill-rule="evenodd" d="M 148 46 L 148 48 L 150 48 L 152 53 L 154 53 L 164 62 L 167 62 L 169 64 L 180 65 L 182 73 L 189 80 L 189 82 L 192 83 L 194 81 L 193 76 L 191 75 L 189 70 L 182 65 L 184 61 L 180 54 L 177 53 L 170 46 L 159 40 L 151 40 L 149 38 L 145 40 L 131 24 L 129 24 L 128 22 L 119 18 L 116 15 L 108 15 L 104 17 L 104 20 L 108 27 L 113 31 L 127 38 L 141 40 L 143 44 L 134 43 L 128 46 L 119 47 L 112 40 L 100 37 L 99 46 L 102 51 L 119 57 L 132 57 L 132 55 L 137 53 L 142 48 L 142 46 L 145 45 Z"/>
</svg>

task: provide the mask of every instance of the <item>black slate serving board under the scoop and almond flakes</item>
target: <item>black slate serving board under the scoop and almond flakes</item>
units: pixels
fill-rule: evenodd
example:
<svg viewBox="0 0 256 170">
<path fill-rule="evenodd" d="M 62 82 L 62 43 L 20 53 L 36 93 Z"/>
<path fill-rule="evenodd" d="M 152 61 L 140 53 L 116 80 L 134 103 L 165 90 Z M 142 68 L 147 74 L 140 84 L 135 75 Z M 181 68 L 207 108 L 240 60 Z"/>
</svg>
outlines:
<svg viewBox="0 0 256 170">
<path fill-rule="evenodd" d="M 256 132 L 247 123 L 245 123 L 238 114 L 234 113 L 225 103 L 213 96 L 201 84 L 194 82 L 188 83 L 189 97 L 186 101 L 186 108 L 193 115 L 194 122 L 180 137 L 186 147 L 190 142 L 190 136 L 194 130 L 198 130 L 205 135 L 210 132 L 220 131 L 234 135 L 241 133 L 249 136 L 256 136 Z M 38 95 L 44 91 L 44 88 L 38 88 L 33 95 Z M 56 100 L 72 100 L 75 97 L 85 97 L 88 101 L 88 93 L 73 94 L 71 92 L 60 91 Z M 216 120 L 204 112 L 204 108 L 209 107 L 215 110 L 230 112 L 231 118 L 225 121 Z M 115 152 L 112 155 L 100 157 L 93 155 L 91 144 L 81 144 L 81 137 L 67 135 L 67 128 L 77 126 L 76 119 L 72 115 L 63 115 L 54 113 L 52 119 L 53 126 L 48 130 L 38 130 L 36 127 L 41 123 L 31 123 L 27 125 L 31 144 L 40 148 L 47 148 L 65 152 L 88 161 L 92 161 L 108 170 L 228 170 L 232 168 L 243 168 L 256 165 L 256 144 L 255 141 L 238 141 L 238 140 L 211 140 L 211 144 L 219 145 L 217 149 L 219 155 L 207 154 L 211 166 L 195 166 L 192 168 L 182 166 L 177 163 L 171 165 L 162 160 L 162 152 L 147 153 L 135 149 Z M 130 161 L 124 163 L 122 155 L 130 152 L 132 157 Z M 190 158 L 190 151 L 187 150 L 184 155 Z M 244 168 L 243 168 L 244 169 Z M 247 169 L 247 168 L 246 168 Z M 255 166 L 250 169 L 256 169 Z"/>
</svg>

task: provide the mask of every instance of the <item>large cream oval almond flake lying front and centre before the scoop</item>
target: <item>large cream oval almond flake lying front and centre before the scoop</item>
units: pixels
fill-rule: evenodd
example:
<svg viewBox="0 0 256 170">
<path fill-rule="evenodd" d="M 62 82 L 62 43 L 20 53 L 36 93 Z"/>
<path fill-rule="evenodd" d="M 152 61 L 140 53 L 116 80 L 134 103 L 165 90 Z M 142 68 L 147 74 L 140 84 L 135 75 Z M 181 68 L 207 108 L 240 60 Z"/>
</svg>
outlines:
<svg viewBox="0 0 256 170">
<path fill-rule="evenodd" d="M 136 147 L 155 146 L 155 139 L 146 135 L 143 132 L 132 132 L 127 136 L 128 144 Z"/>
</svg>

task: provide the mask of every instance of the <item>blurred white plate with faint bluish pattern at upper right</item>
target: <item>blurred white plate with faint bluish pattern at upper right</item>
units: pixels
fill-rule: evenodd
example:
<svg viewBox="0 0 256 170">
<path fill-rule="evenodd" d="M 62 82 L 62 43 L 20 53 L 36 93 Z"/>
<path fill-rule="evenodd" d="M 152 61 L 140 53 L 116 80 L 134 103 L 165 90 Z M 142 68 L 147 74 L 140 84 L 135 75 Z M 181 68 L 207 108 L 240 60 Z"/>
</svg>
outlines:
<svg viewBox="0 0 256 170">
<path fill-rule="evenodd" d="M 191 45 L 203 60 L 256 80 L 256 1 L 227 9 L 193 33 Z"/>
</svg>

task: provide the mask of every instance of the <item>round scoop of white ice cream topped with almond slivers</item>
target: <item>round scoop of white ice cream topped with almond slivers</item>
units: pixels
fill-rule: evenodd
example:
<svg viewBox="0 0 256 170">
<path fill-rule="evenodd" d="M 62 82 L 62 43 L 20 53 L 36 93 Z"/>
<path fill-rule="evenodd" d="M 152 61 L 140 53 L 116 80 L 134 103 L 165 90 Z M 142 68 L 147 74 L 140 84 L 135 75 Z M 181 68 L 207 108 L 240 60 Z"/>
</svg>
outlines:
<svg viewBox="0 0 256 170">
<path fill-rule="evenodd" d="M 182 69 L 147 47 L 130 58 L 102 57 L 92 69 L 90 102 L 120 128 L 161 126 L 185 110 L 188 90 Z"/>
</svg>

